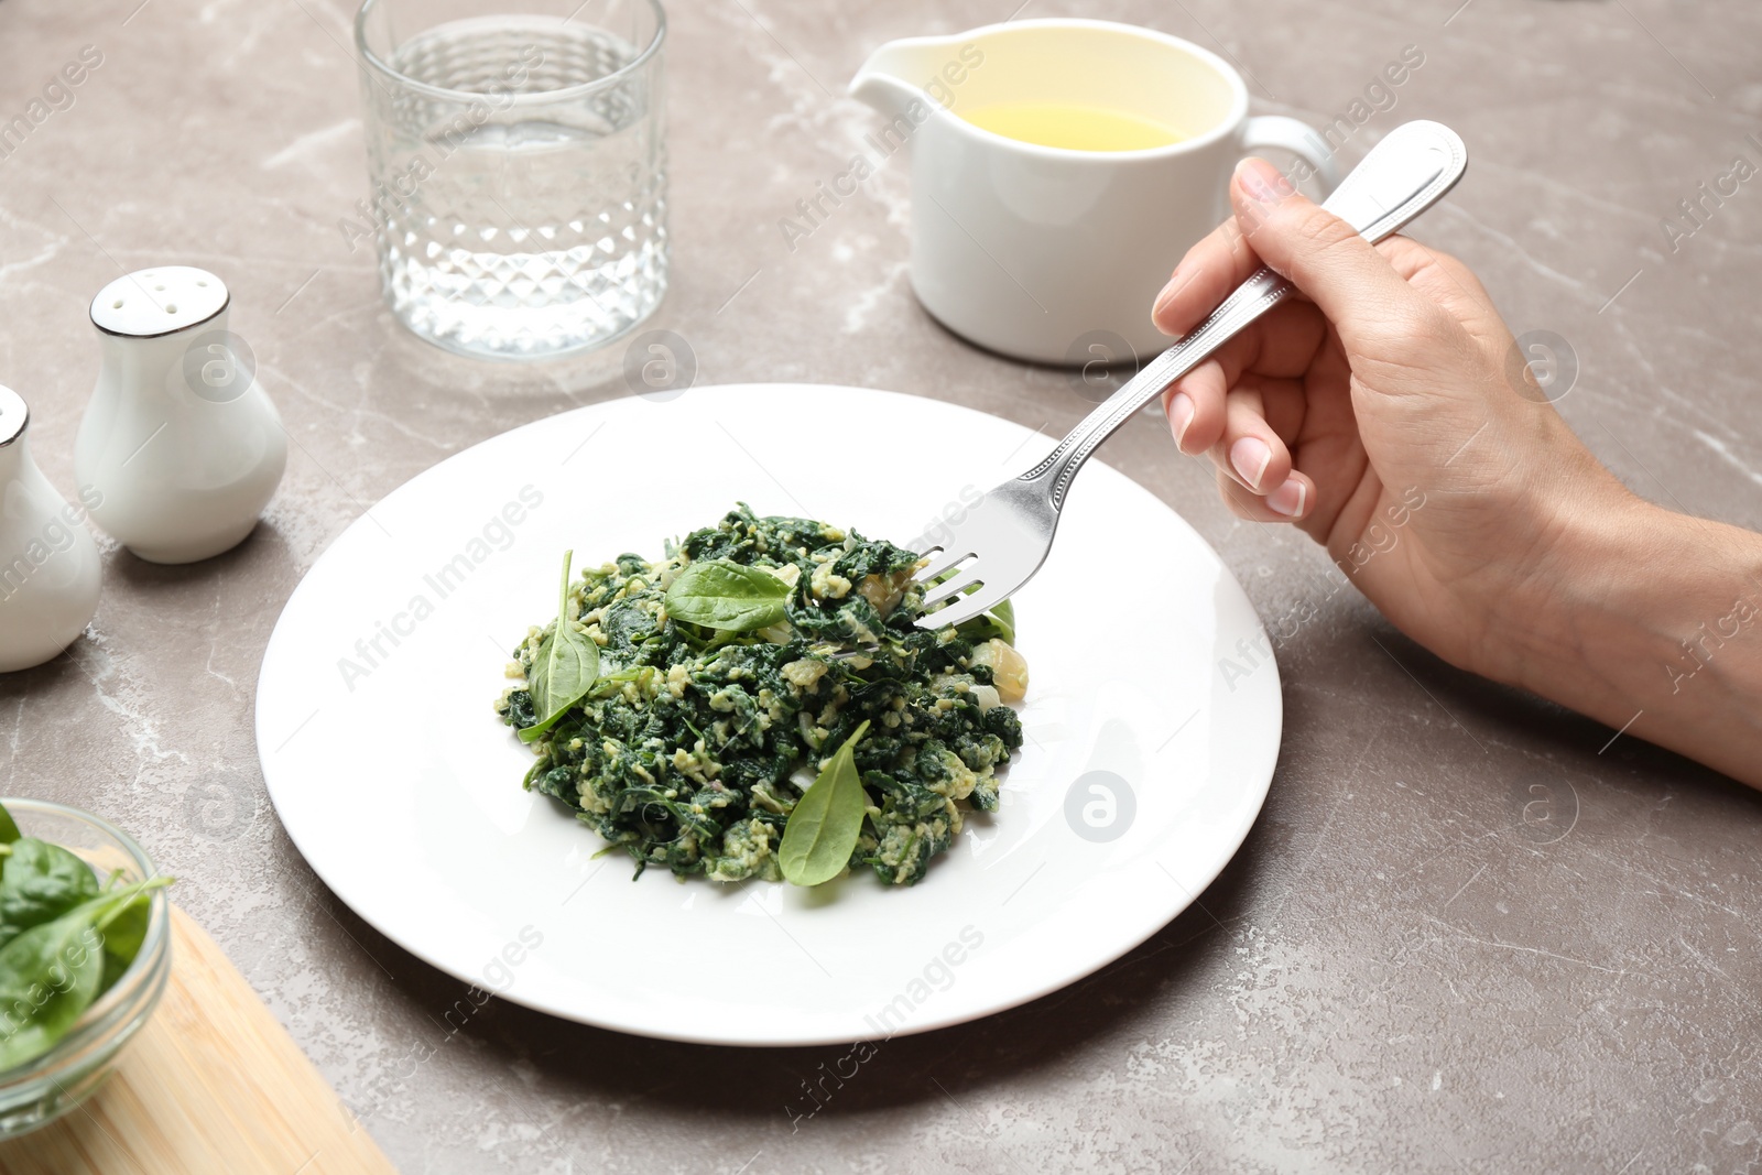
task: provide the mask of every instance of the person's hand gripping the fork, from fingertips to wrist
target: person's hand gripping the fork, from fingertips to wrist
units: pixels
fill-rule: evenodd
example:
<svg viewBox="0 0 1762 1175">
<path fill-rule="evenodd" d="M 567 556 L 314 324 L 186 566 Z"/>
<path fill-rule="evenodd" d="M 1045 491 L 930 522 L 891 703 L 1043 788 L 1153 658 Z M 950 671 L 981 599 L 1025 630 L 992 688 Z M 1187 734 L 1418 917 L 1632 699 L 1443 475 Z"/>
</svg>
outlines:
<svg viewBox="0 0 1762 1175">
<path fill-rule="evenodd" d="M 1403 632 L 1517 680 L 1501 617 L 1542 604 L 1586 511 L 1642 506 L 1566 428 L 1468 268 L 1369 245 L 1267 162 L 1237 167 L 1235 218 L 1181 261 L 1154 319 L 1181 335 L 1262 262 L 1302 298 L 1163 396 L 1242 518 L 1293 521 Z"/>
</svg>

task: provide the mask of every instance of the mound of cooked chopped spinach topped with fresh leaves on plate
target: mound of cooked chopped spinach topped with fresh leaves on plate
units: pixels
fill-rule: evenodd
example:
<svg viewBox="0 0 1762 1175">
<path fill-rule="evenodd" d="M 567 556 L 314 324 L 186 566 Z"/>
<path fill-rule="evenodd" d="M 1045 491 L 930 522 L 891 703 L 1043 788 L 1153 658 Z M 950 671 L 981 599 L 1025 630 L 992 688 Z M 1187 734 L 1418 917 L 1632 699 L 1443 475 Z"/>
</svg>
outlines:
<svg viewBox="0 0 1762 1175">
<path fill-rule="evenodd" d="M 661 562 L 571 578 L 515 650 L 497 712 L 640 876 L 922 881 L 997 807 L 1027 689 L 1008 604 L 922 629 L 916 553 L 740 506 Z"/>
</svg>

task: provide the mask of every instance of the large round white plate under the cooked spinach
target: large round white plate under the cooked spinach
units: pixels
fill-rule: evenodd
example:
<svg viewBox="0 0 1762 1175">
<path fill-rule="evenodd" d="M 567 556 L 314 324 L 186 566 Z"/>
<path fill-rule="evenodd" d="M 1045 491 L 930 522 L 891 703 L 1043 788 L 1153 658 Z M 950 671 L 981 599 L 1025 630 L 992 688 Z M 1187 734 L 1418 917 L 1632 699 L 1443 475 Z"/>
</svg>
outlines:
<svg viewBox="0 0 1762 1175">
<path fill-rule="evenodd" d="M 629 858 L 596 858 L 597 833 L 522 791 L 532 756 L 492 710 L 509 650 L 555 615 L 566 548 L 578 565 L 654 558 L 737 499 L 906 541 L 1050 444 L 936 400 L 752 384 L 578 409 L 458 453 L 351 525 L 277 622 L 257 682 L 275 809 L 407 951 L 585 1024 L 846 1043 L 1054 992 L 1218 876 L 1279 750 L 1279 676 L 1244 654 L 1265 648 L 1247 597 L 1115 470 L 1091 462 L 1017 595 L 1029 742 L 1003 809 L 914 888 L 633 883 Z"/>
</svg>

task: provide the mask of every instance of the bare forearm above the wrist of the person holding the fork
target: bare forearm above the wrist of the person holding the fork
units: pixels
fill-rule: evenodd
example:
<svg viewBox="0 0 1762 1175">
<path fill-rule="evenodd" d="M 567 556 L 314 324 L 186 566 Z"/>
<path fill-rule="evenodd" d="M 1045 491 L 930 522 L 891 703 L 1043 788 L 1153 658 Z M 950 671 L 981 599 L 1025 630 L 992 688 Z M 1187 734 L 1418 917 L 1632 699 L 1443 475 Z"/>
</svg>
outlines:
<svg viewBox="0 0 1762 1175">
<path fill-rule="evenodd" d="M 1762 787 L 1762 536 L 1630 499 L 1554 558 L 1514 684 Z"/>
</svg>

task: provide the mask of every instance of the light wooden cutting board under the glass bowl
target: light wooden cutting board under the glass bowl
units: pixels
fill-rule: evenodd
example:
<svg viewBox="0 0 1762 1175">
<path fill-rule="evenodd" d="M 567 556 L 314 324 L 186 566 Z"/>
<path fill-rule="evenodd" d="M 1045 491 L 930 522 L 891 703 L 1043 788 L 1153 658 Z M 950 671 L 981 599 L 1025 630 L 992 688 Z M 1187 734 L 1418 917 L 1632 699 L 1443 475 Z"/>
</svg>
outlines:
<svg viewBox="0 0 1762 1175">
<path fill-rule="evenodd" d="M 171 907 L 171 979 L 81 1106 L 0 1175 L 396 1175 L 245 976 Z"/>
</svg>

